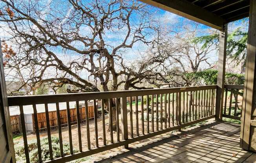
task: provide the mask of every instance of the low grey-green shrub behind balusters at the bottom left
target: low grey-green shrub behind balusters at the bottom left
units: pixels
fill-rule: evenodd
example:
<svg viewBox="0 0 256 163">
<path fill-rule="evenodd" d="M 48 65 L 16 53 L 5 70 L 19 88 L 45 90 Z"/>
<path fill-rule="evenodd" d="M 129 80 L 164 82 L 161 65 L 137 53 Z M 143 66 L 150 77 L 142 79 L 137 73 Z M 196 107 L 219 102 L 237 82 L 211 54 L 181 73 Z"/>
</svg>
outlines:
<svg viewBox="0 0 256 163">
<path fill-rule="evenodd" d="M 50 159 L 49 154 L 49 144 L 48 144 L 48 138 L 41 138 L 41 154 L 42 154 L 42 161 L 46 161 Z M 51 138 L 51 144 L 53 149 L 53 158 L 59 158 L 60 157 L 60 144 L 59 144 L 59 138 L 52 137 Z M 37 163 L 38 162 L 38 150 L 37 150 L 37 141 L 32 140 L 28 143 L 28 149 L 29 149 L 29 159 L 30 162 Z M 77 149 L 73 149 L 74 153 L 79 152 Z M 69 144 L 66 142 L 63 142 L 63 153 L 64 156 L 69 155 Z M 26 156 L 25 156 L 25 149 L 24 149 L 24 143 L 17 143 L 15 144 L 15 158 L 17 163 L 25 163 L 26 162 Z M 82 158 L 77 159 L 75 161 L 72 161 L 72 163 L 79 163 L 82 161 L 86 161 L 88 158 Z"/>
</svg>

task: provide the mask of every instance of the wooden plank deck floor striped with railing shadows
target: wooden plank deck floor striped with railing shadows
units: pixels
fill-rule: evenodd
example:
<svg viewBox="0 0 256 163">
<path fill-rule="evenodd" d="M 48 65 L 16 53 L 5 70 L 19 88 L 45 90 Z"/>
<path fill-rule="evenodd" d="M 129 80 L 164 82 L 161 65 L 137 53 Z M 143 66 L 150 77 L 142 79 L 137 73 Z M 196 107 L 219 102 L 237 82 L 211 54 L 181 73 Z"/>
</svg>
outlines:
<svg viewBox="0 0 256 163">
<path fill-rule="evenodd" d="M 256 163 L 256 154 L 242 150 L 239 143 L 240 125 L 214 122 L 99 162 Z"/>
</svg>

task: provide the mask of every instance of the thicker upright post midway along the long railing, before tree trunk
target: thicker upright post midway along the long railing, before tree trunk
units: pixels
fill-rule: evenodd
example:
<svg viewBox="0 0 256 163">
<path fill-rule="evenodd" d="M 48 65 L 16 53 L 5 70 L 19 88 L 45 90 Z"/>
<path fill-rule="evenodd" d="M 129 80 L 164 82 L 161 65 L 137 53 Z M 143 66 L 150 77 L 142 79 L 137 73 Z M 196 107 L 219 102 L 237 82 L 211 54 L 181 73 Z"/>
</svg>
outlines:
<svg viewBox="0 0 256 163">
<path fill-rule="evenodd" d="M 122 116 L 122 138 L 123 140 L 128 139 L 128 122 L 127 122 L 127 102 L 126 96 L 121 98 L 122 109 L 121 109 L 121 116 Z M 143 99 L 142 99 L 143 100 Z M 128 143 L 124 145 L 124 148 L 128 148 Z"/>
</svg>

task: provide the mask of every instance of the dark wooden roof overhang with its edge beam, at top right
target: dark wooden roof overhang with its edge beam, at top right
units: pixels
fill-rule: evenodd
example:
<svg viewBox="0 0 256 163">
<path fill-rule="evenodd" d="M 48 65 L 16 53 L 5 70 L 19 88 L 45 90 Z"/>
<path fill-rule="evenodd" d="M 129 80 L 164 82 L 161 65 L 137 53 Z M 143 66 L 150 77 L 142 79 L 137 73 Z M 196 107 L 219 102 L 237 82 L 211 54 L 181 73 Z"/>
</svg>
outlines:
<svg viewBox="0 0 256 163">
<path fill-rule="evenodd" d="M 249 16 L 249 0 L 140 0 L 215 29 Z"/>
</svg>

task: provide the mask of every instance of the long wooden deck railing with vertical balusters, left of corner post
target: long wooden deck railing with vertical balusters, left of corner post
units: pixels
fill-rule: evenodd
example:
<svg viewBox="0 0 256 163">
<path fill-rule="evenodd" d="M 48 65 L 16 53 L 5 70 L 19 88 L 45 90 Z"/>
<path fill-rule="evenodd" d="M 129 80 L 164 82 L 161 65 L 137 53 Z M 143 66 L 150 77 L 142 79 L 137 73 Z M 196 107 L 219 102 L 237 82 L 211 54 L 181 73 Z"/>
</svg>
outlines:
<svg viewBox="0 0 256 163">
<path fill-rule="evenodd" d="M 136 91 L 114 91 L 114 92 L 91 92 L 91 93 L 76 93 L 76 94 L 56 94 L 56 95 L 40 95 L 40 96 L 15 96 L 8 97 L 9 106 L 19 106 L 22 132 L 24 139 L 24 147 L 26 154 L 26 161 L 29 162 L 29 149 L 27 143 L 25 122 L 24 122 L 24 105 L 33 105 L 33 115 L 37 115 L 37 104 L 45 105 L 47 132 L 48 132 L 48 143 L 49 143 L 49 154 L 50 160 L 45 162 L 57 163 L 67 162 L 90 156 L 102 151 L 110 150 L 116 147 L 124 146 L 128 147 L 128 144 L 140 141 L 152 136 L 157 136 L 172 130 L 181 129 L 188 125 L 198 123 L 201 121 L 208 120 L 215 117 L 215 100 L 216 100 L 216 85 L 199 86 L 199 87 L 182 87 L 182 88 L 168 88 L 168 89 L 148 89 L 148 90 L 136 90 Z M 142 100 L 138 100 L 138 96 L 142 96 Z M 127 97 L 130 99 L 127 102 Z M 132 101 L 132 97 L 135 97 L 135 101 Z M 121 100 L 118 100 L 118 99 Z M 146 99 L 144 103 L 143 99 Z M 152 99 L 152 100 L 150 100 Z M 91 147 L 91 133 L 88 116 L 88 100 L 94 102 L 94 133 L 95 147 Z M 119 109 L 116 109 L 116 120 L 117 120 L 117 131 L 113 131 L 112 124 L 112 109 L 109 111 L 108 117 L 111 118 L 109 128 L 106 130 L 106 123 L 104 107 L 102 108 L 102 117 L 97 119 L 97 107 L 96 100 L 117 101 L 115 106 L 121 106 L 121 118 L 119 115 Z M 79 152 L 73 152 L 72 142 L 72 131 L 70 121 L 70 110 L 69 102 L 75 101 L 76 106 L 79 107 L 79 101 L 85 101 L 85 112 L 86 112 L 86 141 L 82 141 L 81 134 L 81 121 L 80 121 L 80 109 L 77 110 L 77 131 L 79 142 Z M 62 144 L 62 127 L 60 123 L 60 110 L 59 103 L 65 102 L 67 107 L 68 116 L 68 134 L 69 134 L 69 145 L 70 152 L 65 156 L 63 152 Z M 51 131 L 49 124 L 49 112 L 48 103 L 55 103 L 57 110 L 57 122 L 58 122 L 58 133 L 60 139 L 60 158 L 53 158 L 53 150 L 51 146 Z M 107 105 L 109 108 L 110 105 Z M 141 109 L 139 109 L 141 108 Z M 145 109 L 144 109 L 145 108 Z M 107 109 L 108 110 L 108 109 Z M 145 112 L 145 113 L 144 113 Z M 129 114 L 128 114 L 129 113 Z M 133 115 L 135 116 L 133 117 Z M 151 117 L 150 117 L 151 116 Z M 119 123 L 119 120 L 121 122 Z M 42 162 L 41 147 L 40 147 L 40 134 L 38 129 L 38 119 L 34 116 L 35 121 L 35 132 L 37 138 L 38 148 L 38 160 Z M 100 125 L 99 125 L 100 124 Z M 99 130 L 99 126 L 101 129 Z M 119 129 L 121 132 L 119 132 Z M 100 132 L 99 132 L 100 131 Z M 117 138 L 114 138 L 114 134 Z M 121 133 L 121 138 L 119 136 Z M 99 134 L 102 134 L 102 138 L 99 139 Z M 106 134 L 110 135 L 110 140 L 106 138 Z M 84 146 L 86 144 L 86 146 Z M 82 147 L 86 147 L 82 148 Z"/>
</svg>

